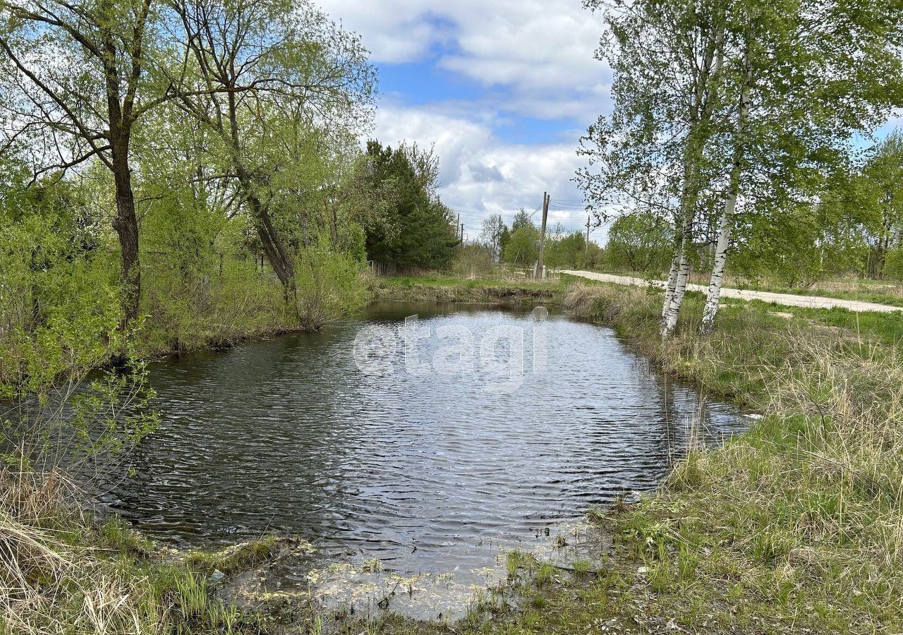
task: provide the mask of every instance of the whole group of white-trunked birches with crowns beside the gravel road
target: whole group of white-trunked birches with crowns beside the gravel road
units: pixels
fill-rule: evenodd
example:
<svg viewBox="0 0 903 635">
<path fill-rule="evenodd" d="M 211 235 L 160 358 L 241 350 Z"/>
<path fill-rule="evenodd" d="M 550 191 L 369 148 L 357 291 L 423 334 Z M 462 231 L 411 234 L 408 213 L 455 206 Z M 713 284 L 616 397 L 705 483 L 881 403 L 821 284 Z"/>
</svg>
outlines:
<svg viewBox="0 0 903 635">
<path fill-rule="evenodd" d="M 590 167 L 578 179 L 597 208 L 673 219 L 663 336 L 676 328 L 694 226 L 715 201 L 723 207 L 703 332 L 738 201 L 742 215 L 817 196 L 852 132 L 868 133 L 899 102 L 900 15 L 868 0 L 666 0 L 617 3 L 607 15 L 600 56 L 615 73 L 615 107 L 582 140 Z"/>
</svg>

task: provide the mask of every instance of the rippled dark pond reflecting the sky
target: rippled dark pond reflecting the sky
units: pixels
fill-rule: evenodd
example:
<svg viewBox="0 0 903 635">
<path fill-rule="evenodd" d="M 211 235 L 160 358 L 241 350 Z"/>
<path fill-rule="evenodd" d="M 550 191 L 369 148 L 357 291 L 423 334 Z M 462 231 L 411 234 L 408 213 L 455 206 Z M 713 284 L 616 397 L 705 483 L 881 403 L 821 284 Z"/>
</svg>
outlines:
<svg viewBox="0 0 903 635">
<path fill-rule="evenodd" d="M 653 490 L 691 436 L 744 428 L 609 329 L 533 308 L 374 303 L 325 332 L 154 363 L 162 429 L 108 503 L 174 546 L 310 541 L 271 587 L 378 562 L 472 589 L 504 549 Z"/>
</svg>

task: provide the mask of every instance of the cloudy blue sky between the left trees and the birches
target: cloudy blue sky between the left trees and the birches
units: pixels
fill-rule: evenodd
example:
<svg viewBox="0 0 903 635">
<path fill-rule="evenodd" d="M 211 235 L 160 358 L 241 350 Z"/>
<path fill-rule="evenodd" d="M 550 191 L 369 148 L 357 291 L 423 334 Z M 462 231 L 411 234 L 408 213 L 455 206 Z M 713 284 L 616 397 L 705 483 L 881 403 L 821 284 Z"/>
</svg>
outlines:
<svg viewBox="0 0 903 635">
<path fill-rule="evenodd" d="M 583 164 L 576 150 L 587 126 L 610 111 L 610 71 L 593 58 L 600 17 L 581 0 L 318 4 L 362 37 L 377 66 L 370 135 L 435 146 L 440 195 L 461 213 L 465 238 L 477 238 L 489 214 L 510 225 L 517 210 L 532 212 L 544 191 L 550 227 L 585 227 L 572 181 Z"/>
</svg>

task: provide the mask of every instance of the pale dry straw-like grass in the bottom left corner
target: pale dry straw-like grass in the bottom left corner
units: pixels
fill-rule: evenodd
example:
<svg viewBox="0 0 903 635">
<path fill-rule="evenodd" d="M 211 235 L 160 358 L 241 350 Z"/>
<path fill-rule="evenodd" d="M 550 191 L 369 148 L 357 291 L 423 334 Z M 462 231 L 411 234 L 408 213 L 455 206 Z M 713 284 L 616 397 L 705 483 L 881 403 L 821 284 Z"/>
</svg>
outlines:
<svg viewBox="0 0 903 635">
<path fill-rule="evenodd" d="M 76 493 L 57 474 L 0 472 L 0 632 L 158 632 L 146 581 L 79 546 Z"/>
</svg>

